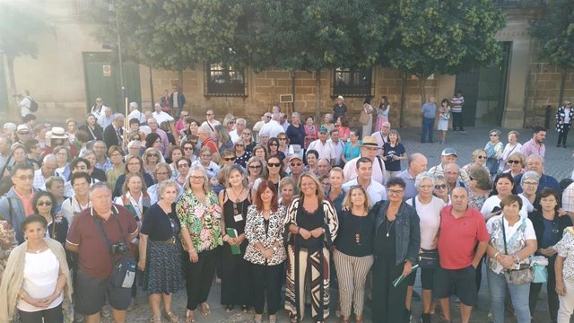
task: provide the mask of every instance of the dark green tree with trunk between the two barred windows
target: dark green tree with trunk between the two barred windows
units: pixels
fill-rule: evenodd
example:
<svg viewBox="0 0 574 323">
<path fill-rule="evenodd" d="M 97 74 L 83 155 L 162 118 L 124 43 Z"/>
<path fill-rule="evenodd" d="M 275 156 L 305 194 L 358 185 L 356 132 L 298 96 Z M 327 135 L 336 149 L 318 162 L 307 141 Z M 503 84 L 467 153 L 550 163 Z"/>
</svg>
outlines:
<svg viewBox="0 0 574 323">
<path fill-rule="evenodd" d="M 389 24 L 371 0 L 257 0 L 256 21 L 256 69 L 315 72 L 316 114 L 320 71 L 370 68 Z"/>
</svg>

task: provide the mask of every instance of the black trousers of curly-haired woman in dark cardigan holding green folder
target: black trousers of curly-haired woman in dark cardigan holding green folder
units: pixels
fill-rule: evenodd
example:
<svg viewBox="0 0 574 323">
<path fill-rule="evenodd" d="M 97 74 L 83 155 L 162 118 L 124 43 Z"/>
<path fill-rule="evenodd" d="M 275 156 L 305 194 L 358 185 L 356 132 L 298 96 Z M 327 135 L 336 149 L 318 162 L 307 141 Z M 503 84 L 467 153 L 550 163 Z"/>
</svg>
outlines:
<svg viewBox="0 0 574 323">
<path fill-rule="evenodd" d="M 372 321 L 374 323 L 405 323 L 406 287 L 408 280 L 398 286 L 393 281 L 403 274 L 404 264 L 395 265 L 393 257 L 375 257 L 373 263 Z"/>
</svg>

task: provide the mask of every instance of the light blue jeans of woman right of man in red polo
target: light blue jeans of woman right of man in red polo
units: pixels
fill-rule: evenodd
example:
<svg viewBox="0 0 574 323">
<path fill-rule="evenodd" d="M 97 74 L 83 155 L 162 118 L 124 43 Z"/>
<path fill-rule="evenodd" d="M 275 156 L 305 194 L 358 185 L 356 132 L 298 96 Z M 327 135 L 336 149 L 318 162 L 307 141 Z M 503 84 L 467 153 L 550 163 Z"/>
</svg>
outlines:
<svg viewBox="0 0 574 323">
<path fill-rule="evenodd" d="M 510 301 L 517 315 L 517 323 L 530 323 L 528 297 L 530 284 L 507 284 L 504 274 L 495 274 L 491 268 L 486 269 L 488 289 L 491 293 L 491 310 L 494 323 L 504 323 L 504 298 L 506 287 L 509 287 Z"/>
</svg>

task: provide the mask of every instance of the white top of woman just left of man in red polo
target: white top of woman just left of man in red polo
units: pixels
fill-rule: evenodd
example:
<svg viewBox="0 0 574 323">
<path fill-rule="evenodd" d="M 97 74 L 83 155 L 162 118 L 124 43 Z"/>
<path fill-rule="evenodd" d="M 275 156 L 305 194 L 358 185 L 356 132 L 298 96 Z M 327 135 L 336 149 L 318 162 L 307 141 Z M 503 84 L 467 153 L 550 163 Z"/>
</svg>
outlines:
<svg viewBox="0 0 574 323">
<path fill-rule="evenodd" d="M 422 204 L 419 196 L 416 199 L 416 213 L 419 215 L 421 226 L 421 248 L 431 249 L 432 240 L 440 229 L 440 211 L 447 204 L 437 196 L 432 196 L 431 202 Z M 413 198 L 407 198 L 406 204 L 413 206 Z"/>
</svg>

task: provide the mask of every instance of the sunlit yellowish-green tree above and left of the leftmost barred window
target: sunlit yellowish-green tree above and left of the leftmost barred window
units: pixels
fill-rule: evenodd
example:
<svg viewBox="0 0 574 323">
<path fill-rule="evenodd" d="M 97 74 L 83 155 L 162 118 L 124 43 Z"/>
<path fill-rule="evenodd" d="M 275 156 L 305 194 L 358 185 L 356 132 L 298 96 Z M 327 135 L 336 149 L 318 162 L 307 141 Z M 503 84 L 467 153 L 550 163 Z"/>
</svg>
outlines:
<svg viewBox="0 0 574 323">
<path fill-rule="evenodd" d="M 182 73 L 229 52 L 241 16 L 238 0 L 129 0 L 111 2 L 117 11 L 122 54 L 137 63 Z M 116 43 L 109 11 L 101 8 L 95 37 Z M 114 13 L 115 14 L 115 13 Z M 115 23 L 115 17 L 112 17 Z M 113 31 L 113 28 L 112 28 Z"/>
</svg>

